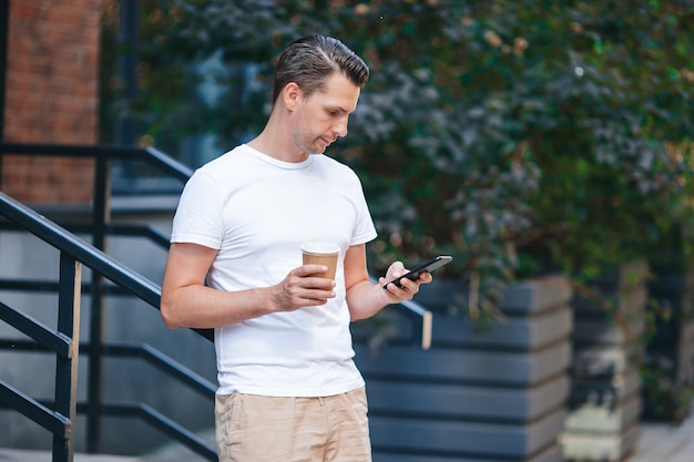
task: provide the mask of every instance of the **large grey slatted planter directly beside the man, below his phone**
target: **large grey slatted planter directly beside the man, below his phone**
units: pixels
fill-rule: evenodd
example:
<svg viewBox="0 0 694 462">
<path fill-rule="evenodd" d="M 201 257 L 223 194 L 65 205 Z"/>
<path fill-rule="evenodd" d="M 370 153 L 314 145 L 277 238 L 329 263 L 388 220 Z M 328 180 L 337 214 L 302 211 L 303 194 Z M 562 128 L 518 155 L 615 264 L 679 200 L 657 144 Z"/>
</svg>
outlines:
<svg viewBox="0 0 694 462">
<path fill-rule="evenodd" d="M 569 284 L 547 278 L 508 288 L 499 306 L 506 322 L 486 330 L 448 315 L 465 297 L 458 283 L 422 288 L 417 301 L 433 311 L 429 350 L 405 341 L 410 330 L 398 325 L 395 338 L 371 351 L 355 326 L 374 461 L 562 461 Z"/>
</svg>

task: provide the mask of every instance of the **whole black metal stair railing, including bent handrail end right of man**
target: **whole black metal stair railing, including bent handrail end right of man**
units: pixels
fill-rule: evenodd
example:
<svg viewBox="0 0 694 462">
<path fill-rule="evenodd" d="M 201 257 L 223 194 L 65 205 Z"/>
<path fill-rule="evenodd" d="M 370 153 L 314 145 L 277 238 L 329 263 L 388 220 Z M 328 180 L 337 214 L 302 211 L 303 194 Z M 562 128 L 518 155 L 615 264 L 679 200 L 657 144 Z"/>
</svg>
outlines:
<svg viewBox="0 0 694 462">
<path fill-rule="evenodd" d="M 57 372 L 55 402 L 52 403 L 52 408 L 50 403 L 32 400 L 20 390 L 16 390 L 2 381 L 0 381 L 0 403 L 4 401 L 8 405 L 19 410 L 53 433 L 54 462 L 72 460 L 73 443 L 70 435 L 72 434 L 71 425 L 75 411 L 86 414 L 88 452 L 99 452 L 100 421 L 102 415 L 129 415 L 143 419 L 204 458 L 216 460 L 214 449 L 207 446 L 195 434 L 165 415 L 142 403 L 105 403 L 101 392 L 103 357 L 112 355 L 144 359 L 188 387 L 206 396 L 214 396 L 214 386 L 212 383 L 196 376 L 182 365 L 166 358 L 163 353 L 155 351 L 152 347 L 147 345 L 104 345 L 102 331 L 102 296 L 134 296 L 159 308 L 161 294 L 159 286 L 119 264 L 103 251 L 106 237 L 111 235 L 140 236 L 162 247 L 169 245 L 169 236 L 150 226 L 114 225 L 109 223 L 109 175 L 111 162 L 115 160 L 145 162 L 181 182 L 185 182 L 191 176 L 192 171 L 153 147 L 0 143 L 0 172 L 3 154 L 83 157 L 94 158 L 95 163 L 91 223 L 65 225 L 70 230 L 53 224 L 29 207 L 0 193 L 0 215 L 7 218 L 4 222 L 0 220 L 0 229 L 29 230 L 61 253 L 61 275 L 58 283 L 6 278 L 0 280 L 0 289 L 57 291 L 60 300 L 59 311 L 62 312 L 62 315 L 59 314 L 59 318 L 63 319 L 62 317 L 64 317 L 64 320 L 59 320 L 59 330 L 54 331 L 25 317 L 18 310 L 0 304 L 0 319 L 20 329 L 32 339 L 32 341 L 6 341 L 0 339 L 0 349 L 52 351 L 57 355 L 57 361 L 61 365 L 58 370 L 62 370 L 60 377 Z M 90 234 L 92 243 L 85 243 L 73 233 Z M 70 280 L 79 277 L 81 265 L 92 269 L 91 284 L 73 284 L 69 286 Z M 76 294 L 80 290 L 81 292 L 92 295 L 90 297 L 92 316 L 90 317 L 89 342 L 83 343 L 79 349 L 81 353 L 89 357 L 88 398 L 85 403 L 76 403 L 74 400 L 74 387 L 76 387 L 74 382 L 74 377 L 76 376 L 76 350 L 74 349 L 79 341 L 76 337 L 79 328 L 75 330 L 74 325 L 70 324 L 79 322 L 79 316 L 76 316 L 75 320 L 75 311 L 79 315 L 79 304 L 75 305 L 74 300 L 75 297 L 79 299 Z M 73 302 L 69 304 L 68 300 Z M 404 308 L 401 312 L 412 320 L 412 341 L 425 349 L 429 348 L 431 314 L 412 301 L 404 302 L 401 307 Z M 72 329 L 70 329 L 70 326 L 72 326 Z M 213 339 L 212 330 L 202 329 L 196 331 L 206 339 Z"/>
</svg>

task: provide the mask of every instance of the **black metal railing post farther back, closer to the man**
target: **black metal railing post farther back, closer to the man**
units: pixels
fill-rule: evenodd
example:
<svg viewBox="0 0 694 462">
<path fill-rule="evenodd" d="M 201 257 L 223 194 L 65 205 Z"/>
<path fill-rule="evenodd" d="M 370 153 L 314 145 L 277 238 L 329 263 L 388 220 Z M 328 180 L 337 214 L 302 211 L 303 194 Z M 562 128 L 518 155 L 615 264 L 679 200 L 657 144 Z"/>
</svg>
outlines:
<svg viewBox="0 0 694 462">
<path fill-rule="evenodd" d="M 110 161 L 96 155 L 94 174 L 94 205 L 92 212 L 92 244 L 100 250 L 106 250 L 110 213 Z M 91 318 L 89 328 L 89 384 L 86 409 L 86 451 L 96 453 L 101 445 L 101 408 L 103 402 L 103 338 L 105 325 L 105 304 L 103 297 L 103 277 L 92 271 Z"/>
</svg>

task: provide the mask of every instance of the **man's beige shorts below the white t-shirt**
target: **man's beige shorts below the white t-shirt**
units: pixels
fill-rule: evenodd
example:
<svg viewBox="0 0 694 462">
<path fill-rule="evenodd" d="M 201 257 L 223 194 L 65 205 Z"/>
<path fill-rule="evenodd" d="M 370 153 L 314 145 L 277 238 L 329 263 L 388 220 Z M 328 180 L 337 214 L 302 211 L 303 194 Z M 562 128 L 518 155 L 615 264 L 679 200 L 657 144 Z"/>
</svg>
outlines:
<svg viewBox="0 0 694 462">
<path fill-rule="evenodd" d="M 364 388 L 324 398 L 217 394 L 220 462 L 370 462 Z"/>
</svg>

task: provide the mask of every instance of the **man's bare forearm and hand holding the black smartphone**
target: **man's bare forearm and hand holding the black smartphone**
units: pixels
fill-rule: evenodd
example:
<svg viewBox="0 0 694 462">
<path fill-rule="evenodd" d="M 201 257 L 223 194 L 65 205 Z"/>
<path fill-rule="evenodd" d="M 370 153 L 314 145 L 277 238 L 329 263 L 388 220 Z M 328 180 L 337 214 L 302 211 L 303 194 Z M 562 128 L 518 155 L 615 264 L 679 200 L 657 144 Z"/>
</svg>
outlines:
<svg viewBox="0 0 694 462">
<path fill-rule="evenodd" d="M 378 279 L 378 284 L 369 280 L 366 265 L 366 245 L 351 246 L 345 255 L 345 285 L 347 287 L 347 306 L 353 321 L 370 318 L 386 306 L 411 300 L 419 291 L 420 284 L 431 281 L 429 273 L 422 273 L 417 280 L 402 278 L 402 288 L 389 284 L 386 289 L 382 285 L 386 280 L 392 280 L 402 276 L 407 270 L 400 261 L 395 261 L 388 268 L 385 277 Z"/>
</svg>

